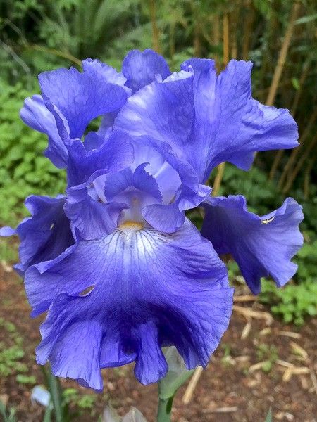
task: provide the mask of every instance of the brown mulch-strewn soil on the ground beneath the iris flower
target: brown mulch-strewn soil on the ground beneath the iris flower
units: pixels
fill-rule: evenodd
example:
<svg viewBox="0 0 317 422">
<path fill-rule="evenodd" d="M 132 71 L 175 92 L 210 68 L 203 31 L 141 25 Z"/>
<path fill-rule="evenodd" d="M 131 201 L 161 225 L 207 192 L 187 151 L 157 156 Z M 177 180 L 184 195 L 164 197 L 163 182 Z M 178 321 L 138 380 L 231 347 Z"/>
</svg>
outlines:
<svg viewBox="0 0 317 422">
<path fill-rule="evenodd" d="M 237 305 L 260 312 L 268 311 L 257 302 Z M 34 353 L 35 346 L 39 343 L 40 319 L 30 319 L 29 314 L 30 307 L 25 300 L 22 281 L 13 272 L 8 272 L 6 265 L 1 267 L 0 264 L 0 317 L 15 324 L 18 333 L 23 337 L 25 351 L 23 362 L 30 369 L 28 374 L 35 375 L 37 383 L 42 383 L 42 371 L 35 363 Z M 292 325 L 285 326 L 276 320 L 271 326 L 268 326 L 264 319 L 249 319 L 249 321 L 251 323 L 249 335 L 242 340 L 241 335 L 247 319 L 234 312 L 230 328 L 225 333 L 208 368 L 202 373 L 192 401 L 187 406 L 182 403 L 186 386 L 178 392 L 173 407 L 173 421 L 263 422 L 270 407 L 273 409 L 274 421 L 317 421 L 317 390 L 311 377 L 311 373 L 317 373 L 317 319 L 307 321 L 307 324 L 300 329 Z M 280 331 L 292 331 L 300 337 L 290 338 L 281 335 Z M 10 341 L 8 333 L 0 331 L 0 342 L 10 346 Z M 303 347 L 308 357 L 294 354 L 292 341 Z M 273 364 L 273 369 L 268 373 L 264 373 L 261 369 L 249 371 L 251 365 L 266 359 L 266 357 L 260 359 L 257 354 L 259 345 L 263 344 L 274 345 L 278 351 L 278 359 L 295 366 L 309 368 L 310 372 L 293 375 L 289 381 L 283 381 L 283 371 L 286 368 L 278 363 Z M 147 387 L 140 385 L 135 380 L 132 369 L 130 365 L 120 369 L 105 370 L 104 393 L 97 396 L 94 411 L 81 411 L 81 415 L 75 420 L 97 421 L 104 404 L 111 402 L 121 415 L 125 414 L 130 406 L 135 406 L 142 411 L 149 422 L 155 421 L 156 385 Z M 15 376 L 13 373 L 0 379 L 0 399 L 17 409 L 18 421 L 42 421 L 42 407 L 30 402 L 30 385 L 18 383 Z M 63 386 L 77 388 L 80 394 L 89 393 L 73 381 L 63 381 Z M 230 409 L 225 412 L 221 408 Z"/>
</svg>

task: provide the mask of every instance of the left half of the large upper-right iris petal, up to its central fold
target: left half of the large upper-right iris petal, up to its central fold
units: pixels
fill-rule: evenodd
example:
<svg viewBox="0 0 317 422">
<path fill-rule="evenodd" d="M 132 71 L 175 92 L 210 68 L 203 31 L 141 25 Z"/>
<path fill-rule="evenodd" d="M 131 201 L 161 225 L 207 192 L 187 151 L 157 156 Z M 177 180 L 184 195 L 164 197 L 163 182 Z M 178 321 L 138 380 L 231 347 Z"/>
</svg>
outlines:
<svg viewBox="0 0 317 422">
<path fill-rule="evenodd" d="M 194 122 L 193 73 L 166 82 L 153 82 L 128 98 L 115 120 L 115 127 L 132 136 L 150 136 L 172 146 L 186 157 Z M 175 79 L 175 80 L 173 80 Z"/>
</svg>

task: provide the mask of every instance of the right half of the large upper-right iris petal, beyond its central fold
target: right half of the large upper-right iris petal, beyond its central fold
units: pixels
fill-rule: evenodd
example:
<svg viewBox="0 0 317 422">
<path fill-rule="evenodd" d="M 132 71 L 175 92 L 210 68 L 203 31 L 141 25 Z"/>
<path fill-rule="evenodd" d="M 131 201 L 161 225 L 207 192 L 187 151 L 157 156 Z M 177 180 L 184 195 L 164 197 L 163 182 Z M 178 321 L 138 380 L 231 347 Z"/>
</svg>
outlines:
<svg viewBox="0 0 317 422">
<path fill-rule="evenodd" d="M 194 148 L 202 181 L 220 162 L 248 170 L 255 151 L 294 148 L 297 124 L 288 110 L 263 106 L 251 98 L 251 62 L 230 60 L 216 77 L 213 64 L 188 60 L 194 68 Z"/>
</svg>

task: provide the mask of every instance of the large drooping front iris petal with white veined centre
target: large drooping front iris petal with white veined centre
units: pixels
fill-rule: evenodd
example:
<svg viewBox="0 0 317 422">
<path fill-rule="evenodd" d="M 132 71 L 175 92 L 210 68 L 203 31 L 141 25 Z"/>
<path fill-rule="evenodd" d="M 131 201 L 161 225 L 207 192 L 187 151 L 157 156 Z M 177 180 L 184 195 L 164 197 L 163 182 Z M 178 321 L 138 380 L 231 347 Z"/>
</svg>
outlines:
<svg viewBox="0 0 317 422">
<path fill-rule="evenodd" d="M 168 369 L 165 345 L 175 345 L 188 368 L 205 366 L 232 308 L 225 266 L 189 220 L 170 235 L 123 224 L 80 242 L 42 274 L 30 268 L 25 283 L 34 306 L 51 302 L 37 362 L 49 359 L 54 373 L 97 390 L 99 369 L 133 360 L 139 381 L 158 381 Z"/>
</svg>

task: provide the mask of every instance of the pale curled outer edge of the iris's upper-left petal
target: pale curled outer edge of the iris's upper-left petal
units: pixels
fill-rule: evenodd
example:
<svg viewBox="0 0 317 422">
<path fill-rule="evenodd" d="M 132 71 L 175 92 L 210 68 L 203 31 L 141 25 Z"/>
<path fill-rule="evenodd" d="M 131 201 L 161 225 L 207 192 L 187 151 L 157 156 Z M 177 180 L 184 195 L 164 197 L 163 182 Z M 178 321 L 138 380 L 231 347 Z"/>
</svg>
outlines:
<svg viewBox="0 0 317 422">
<path fill-rule="evenodd" d="M 28 126 L 49 136 L 49 146 L 44 155 L 58 168 L 66 167 L 67 149 L 58 134 L 54 116 L 46 108 L 43 98 L 34 95 L 26 98 L 20 110 L 20 117 Z"/>
</svg>

